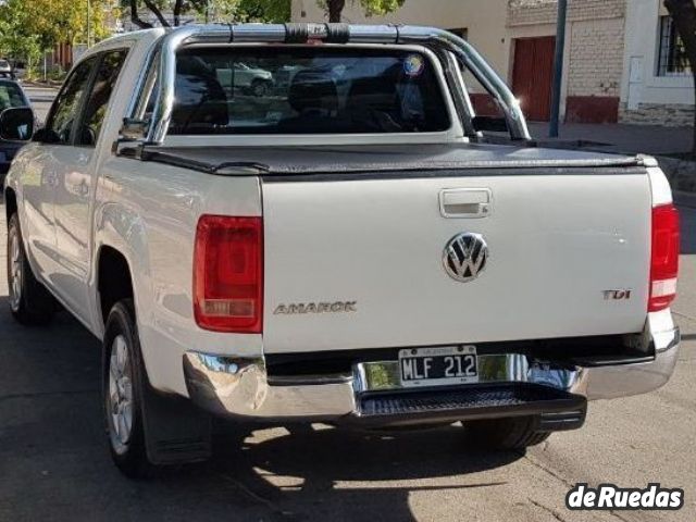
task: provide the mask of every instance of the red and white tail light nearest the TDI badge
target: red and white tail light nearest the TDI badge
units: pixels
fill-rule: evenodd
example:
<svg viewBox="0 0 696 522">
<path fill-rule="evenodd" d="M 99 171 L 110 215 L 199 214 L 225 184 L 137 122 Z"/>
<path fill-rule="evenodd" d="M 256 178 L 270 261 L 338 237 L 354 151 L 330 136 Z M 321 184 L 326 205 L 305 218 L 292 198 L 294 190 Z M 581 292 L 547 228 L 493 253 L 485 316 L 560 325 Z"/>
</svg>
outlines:
<svg viewBox="0 0 696 522">
<path fill-rule="evenodd" d="M 673 204 L 652 209 L 652 253 L 648 312 L 664 310 L 676 297 L 679 213 Z"/>
</svg>

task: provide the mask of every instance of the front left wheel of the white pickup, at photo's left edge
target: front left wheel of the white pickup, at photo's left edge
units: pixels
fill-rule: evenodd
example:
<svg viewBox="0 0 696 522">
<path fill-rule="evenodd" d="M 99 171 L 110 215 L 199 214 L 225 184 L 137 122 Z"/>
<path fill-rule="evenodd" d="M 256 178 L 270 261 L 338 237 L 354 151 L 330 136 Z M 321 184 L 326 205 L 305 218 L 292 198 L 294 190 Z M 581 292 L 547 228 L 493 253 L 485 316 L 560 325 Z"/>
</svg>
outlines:
<svg viewBox="0 0 696 522">
<path fill-rule="evenodd" d="M 8 222 L 8 286 L 10 310 L 17 322 L 33 326 L 51 321 L 57 308 L 55 299 L 37 281 L 26 259 L 16 212 Z"/>
</svg>

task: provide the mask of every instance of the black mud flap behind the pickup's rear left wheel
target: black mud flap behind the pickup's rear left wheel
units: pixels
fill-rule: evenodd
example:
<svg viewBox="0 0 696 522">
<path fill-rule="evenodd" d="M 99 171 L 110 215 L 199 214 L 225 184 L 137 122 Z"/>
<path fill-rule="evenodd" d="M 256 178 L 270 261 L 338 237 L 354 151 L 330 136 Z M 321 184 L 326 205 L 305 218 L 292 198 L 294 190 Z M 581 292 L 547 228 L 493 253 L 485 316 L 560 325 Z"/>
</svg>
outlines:
<svg viewBox="0 0 696 522">
<path fill-rule="evenodd" d="M 211 456 L 211 417 L 188 399 L 165 396 L 149 385 L 142 397 L 145 445 L 156 465 L 201 462 Z"/>
</svg>

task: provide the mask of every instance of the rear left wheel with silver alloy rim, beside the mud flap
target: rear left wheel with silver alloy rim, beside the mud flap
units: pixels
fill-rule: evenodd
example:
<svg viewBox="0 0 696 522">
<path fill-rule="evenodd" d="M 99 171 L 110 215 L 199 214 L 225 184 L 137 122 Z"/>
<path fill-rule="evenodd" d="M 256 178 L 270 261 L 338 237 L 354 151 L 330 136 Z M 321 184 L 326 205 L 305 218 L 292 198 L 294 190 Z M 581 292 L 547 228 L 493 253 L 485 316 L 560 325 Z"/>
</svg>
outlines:
<svg viewBox="0 0 696 522">
<path fill-rule="evenodd" d="M 102 397 L 111 458 L 130 478 L 149 477 L 142 422 L 142 387 L 147 386 L 132 299 L 119 301 L 107 320 L 103 340 Z"/>
</svg>

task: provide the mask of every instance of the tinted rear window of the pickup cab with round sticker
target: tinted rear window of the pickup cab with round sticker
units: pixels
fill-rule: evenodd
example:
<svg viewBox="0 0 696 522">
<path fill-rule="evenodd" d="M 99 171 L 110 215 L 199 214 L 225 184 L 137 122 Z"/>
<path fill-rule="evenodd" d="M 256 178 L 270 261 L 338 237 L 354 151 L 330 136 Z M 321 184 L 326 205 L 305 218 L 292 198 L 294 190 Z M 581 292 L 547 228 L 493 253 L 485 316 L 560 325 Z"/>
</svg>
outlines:
<svg viewBox="0 0 696 522">
<path fill-rule="evenodd" d="M 422 53 L 356 48 L 191 48 L 179 52 L 170 135 L 446 130 Z"/>
</svg>

